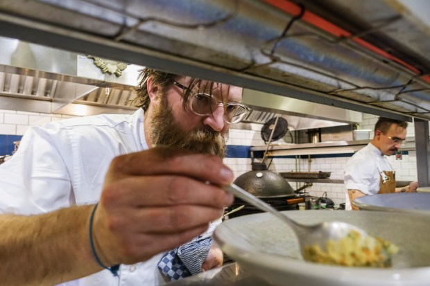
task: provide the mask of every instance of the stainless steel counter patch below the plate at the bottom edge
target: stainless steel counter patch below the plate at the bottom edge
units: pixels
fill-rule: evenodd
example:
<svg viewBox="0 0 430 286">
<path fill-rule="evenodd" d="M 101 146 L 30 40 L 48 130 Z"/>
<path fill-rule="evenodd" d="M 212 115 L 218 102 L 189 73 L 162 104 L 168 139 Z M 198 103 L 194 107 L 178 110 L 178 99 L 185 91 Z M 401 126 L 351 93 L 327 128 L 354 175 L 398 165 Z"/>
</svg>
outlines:
<svg viewBox="0 0 430 286">
<path fill-rule="evenodd" d="M 264 280 L 252 275 L 248 269 L 230 262 L 223 267 L 212 269 L 204 273 L 184 278 L 168 284 L 169 286 L 269 286 Z"/>
</svg>

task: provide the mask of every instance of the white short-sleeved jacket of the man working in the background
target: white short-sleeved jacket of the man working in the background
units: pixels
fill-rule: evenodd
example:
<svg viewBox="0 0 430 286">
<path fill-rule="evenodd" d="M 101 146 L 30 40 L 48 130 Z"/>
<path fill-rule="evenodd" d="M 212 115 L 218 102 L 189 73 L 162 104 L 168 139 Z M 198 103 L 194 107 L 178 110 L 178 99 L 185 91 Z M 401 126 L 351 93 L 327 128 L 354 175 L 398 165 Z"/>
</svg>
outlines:
<svg viewBox="0 0 430 286">
<path fill-rule="evenodd" d="M 348 190 L 361 190 L 365 195 L 376 195 L 380 189 L 379 170 L 393 171 L 390 161 L 372 143 L 356 152 L 348 161 L 343 181 L 346 188 L 345 209 L 351 210 Z"/>
</svg>

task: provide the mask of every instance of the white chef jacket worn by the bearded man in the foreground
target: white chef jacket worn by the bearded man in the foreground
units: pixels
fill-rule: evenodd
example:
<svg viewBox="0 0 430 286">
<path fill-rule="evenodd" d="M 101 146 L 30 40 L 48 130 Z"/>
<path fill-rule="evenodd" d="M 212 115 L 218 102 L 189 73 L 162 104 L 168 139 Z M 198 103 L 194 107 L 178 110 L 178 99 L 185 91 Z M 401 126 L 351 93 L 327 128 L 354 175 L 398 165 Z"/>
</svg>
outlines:
<svg viewBox="0 0 430 286">
<path fill-rule="evenodd" d="M 132 115 L 69 118 L 31 127 L 17 152 L 0 165 L 0 213 L 31 215 L 94 204 L 110 161 L 148 149 L 143 119 L 144 111 L 138 109 Z M 161 257 L 162 253 L 136 265 L 121 265 L 119 277 L 103 270 L 61 285 L 164 284 L 157 269 Z"/>
</svg>

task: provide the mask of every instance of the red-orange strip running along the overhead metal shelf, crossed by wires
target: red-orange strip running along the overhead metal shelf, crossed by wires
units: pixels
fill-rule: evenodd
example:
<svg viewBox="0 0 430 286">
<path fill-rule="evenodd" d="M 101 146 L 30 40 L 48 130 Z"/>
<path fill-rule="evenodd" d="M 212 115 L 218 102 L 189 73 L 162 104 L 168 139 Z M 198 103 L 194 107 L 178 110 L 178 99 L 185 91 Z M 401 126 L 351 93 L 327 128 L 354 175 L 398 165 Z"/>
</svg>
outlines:
<svg viewBox="0 0 430 286">
<path fill-rule="evenodd" d="M 269 3 L 272 6 L 275 6 L 276 8 L 279 8 L 280 10 L 283 10 L 284 12 L 287 12 L 293 16 L 300 15 L 300 12 L 302 11 L 302 8 L 298 6 L 297 4 L 289 1 L 289 0 L 264 0 L 266 3 Z M 352 34 L 348 32 L 347 30 L 343 30 L 343 28 L 340 28 L 329 21 L 319 17 L 318 15 L 314 14 L 313 12 L 309 12 L 308 10 L 305 10 L 302 17 L 300 18 L 302 21 L 307 22 L 308 24 L 311 24 L 313 26 L 316 26 L 317 28 L 320 28 L 321 30 L 324 30 L 325 32 L 332 34 L 336 37 L 351 37 Z M 359 37 L 352 37 L 352 41 L 356 42 L 357 44 L 360 44 L 361 46 L 367 48 L 368 50 L 377 53 L 381 55 L 382 57 L 386 57 L 388 60 L 392 60 L 393 62 L 397 62 L 401 64 L 402 66 L 405 66 L 406 68 L 410 69 L 414 73 L 417 73 L 420 75 L 420 70 L 416 69 L 415 67 L 411 66 L 410 64 L 400 60 L 399 58 L 390 55 L 389 53 L 386 53 L 386 51 L 381 50 L 377 46 L 374 46 L 370 44 L 369 42 L 366 42 L 363 39 L 360 39 Z M 421 75 L 420 78 L 422 80 L 425 80 L 426 82 L 430 82 L 430 75 Z"/>
</svg>

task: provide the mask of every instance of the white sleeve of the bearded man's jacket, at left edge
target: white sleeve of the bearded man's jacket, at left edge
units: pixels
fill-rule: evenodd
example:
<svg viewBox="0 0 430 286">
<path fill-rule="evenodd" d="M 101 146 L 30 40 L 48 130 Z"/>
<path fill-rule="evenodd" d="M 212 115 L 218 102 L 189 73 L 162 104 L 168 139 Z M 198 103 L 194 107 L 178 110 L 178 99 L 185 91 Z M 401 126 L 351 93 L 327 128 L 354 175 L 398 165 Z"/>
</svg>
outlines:
<svg viewBox="0 0 430 286">
<path fill-rule="evenodd" d="M 0 213 L 31 215 L 70 206 L 74 198 L 69 172 L 53 140 L 57 131 L 31 127 L 17 152 L 1 164 Z"/>
</svg>

